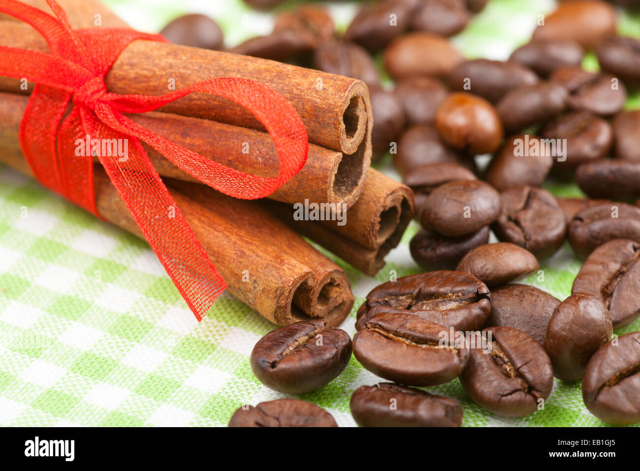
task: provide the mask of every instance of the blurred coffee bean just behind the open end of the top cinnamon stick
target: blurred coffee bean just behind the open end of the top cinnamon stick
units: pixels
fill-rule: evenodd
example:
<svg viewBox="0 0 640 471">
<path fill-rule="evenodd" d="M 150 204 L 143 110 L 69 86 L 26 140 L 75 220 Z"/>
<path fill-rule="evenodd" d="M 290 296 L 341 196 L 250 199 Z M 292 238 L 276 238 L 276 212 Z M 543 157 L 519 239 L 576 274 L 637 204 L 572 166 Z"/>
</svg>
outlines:
<svg viewBox="0 0 640 471">
<path fill-rule="evenodd" d="M 362 80 L 369 87 L 380 84 L 378 68 L 371 55 L 349 42 L 329 41 L 320 45 L 314 54 L 314 68 Z"/>
</svg>

